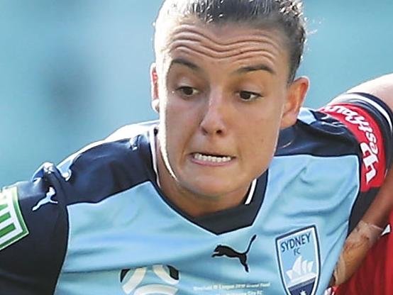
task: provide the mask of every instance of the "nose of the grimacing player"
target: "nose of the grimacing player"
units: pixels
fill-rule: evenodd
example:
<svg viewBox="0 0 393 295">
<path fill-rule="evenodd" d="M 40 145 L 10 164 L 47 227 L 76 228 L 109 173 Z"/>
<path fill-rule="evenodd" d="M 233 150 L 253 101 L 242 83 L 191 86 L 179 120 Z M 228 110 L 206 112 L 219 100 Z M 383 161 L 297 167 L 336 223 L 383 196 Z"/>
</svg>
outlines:
<svg viewBox="0 0 393 295">
<path fill-rule="evenodd" d="M 228 106 L 222 94 L 213 94 L 206 104 L 206 111 L 200 127 L 204 135 L 224 135 L 226 133 L 226 116 Z"/>
</svg>

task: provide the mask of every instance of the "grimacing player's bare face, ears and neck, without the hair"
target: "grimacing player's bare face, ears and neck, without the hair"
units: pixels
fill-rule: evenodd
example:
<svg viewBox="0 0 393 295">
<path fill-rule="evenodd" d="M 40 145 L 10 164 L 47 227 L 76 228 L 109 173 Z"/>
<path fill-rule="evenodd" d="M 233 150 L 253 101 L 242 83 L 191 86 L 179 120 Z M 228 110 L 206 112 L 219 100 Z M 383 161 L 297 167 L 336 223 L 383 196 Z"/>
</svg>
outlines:
<svg viewBox="0 0 393 295">
<path fill-rule="evenodd" d="M 296 121 L 308 80 L 288 83 L 277 30 L 187 19 L 162 39 L 151 74 L 162 190 L 191 216 L 238 206 Z"/>
</svg>

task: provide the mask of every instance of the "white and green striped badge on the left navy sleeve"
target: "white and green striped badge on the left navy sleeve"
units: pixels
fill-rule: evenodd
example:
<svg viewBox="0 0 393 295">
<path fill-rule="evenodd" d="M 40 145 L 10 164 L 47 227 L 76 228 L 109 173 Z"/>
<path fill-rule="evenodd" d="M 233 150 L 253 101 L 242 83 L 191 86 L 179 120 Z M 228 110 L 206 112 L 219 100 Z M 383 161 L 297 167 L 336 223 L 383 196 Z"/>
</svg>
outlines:
<svg viewBox="0 0 393 295">
<path fill-rule="evenodd" d="M 28 235 L 18 203 L 18 190 L 10 187 L 0 191 L 0 250 Z"/>
</svg>

